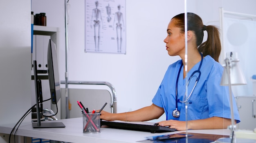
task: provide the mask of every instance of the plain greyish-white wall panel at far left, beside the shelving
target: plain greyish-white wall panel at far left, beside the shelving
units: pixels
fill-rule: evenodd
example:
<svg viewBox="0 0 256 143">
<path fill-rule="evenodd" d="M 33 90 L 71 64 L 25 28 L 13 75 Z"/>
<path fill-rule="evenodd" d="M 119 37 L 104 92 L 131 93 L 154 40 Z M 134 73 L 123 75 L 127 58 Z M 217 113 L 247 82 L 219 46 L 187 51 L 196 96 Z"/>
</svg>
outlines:
<svg viewBox="0 0 256 143">
<path fill-rule="evenodd" d="M 31 1 L 0 3 L 0 124 L 14 126 L 31 107 Z"/>
</svg>

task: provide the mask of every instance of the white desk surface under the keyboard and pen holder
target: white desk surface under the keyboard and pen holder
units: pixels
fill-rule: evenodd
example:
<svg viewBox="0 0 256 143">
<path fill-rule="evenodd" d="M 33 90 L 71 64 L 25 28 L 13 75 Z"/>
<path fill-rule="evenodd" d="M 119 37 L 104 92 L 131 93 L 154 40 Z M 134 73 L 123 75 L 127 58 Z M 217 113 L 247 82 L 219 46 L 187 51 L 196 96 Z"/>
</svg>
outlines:
<svg viewBox="0 0 256 143">
<path fill-rule="evenodd" d="M 175 134 L 184 131 L 155 133 L 140 132 L 132 130 L 121 130 L 113 128 L 101 128 L 101 133 L 83 133 L 83 118 L 55 120 L 63 122 L 65 128 L 33 128 L 31 122 L 22 123 L 18 128 L 18 136 L 35 137 L 71 143 L 135 143 L 145 140 L 145 137 L 160 134 Z M 14 124 L 0 125 L 0 133 L 9 134 Z M 227 129 L 217 130 L 189 130 L 190 133 L 229 135 Z"/>
</svg>

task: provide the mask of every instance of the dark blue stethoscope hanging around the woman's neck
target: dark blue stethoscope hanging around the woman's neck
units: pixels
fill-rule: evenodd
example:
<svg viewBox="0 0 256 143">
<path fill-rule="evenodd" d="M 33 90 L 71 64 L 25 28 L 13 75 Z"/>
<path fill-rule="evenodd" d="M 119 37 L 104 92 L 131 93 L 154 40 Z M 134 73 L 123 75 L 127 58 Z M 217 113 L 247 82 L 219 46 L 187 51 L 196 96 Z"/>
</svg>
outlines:
<svg viewBox="0 0 256 143">
<path fill-rule="evenodd" d="M 180 71 L 181 71 L 181 68 L 182 68 L 182 66 L 183 66 L 183 63 L 180 65 L 180 69 L 179 69 L 178 76 L 177 76 L 177 80 L 176 80 L 176 90 L 175 90 L 175 94 L 176 94 L 176 109 L 173 111 L 173 117 L 175 117 L 175 118 L 180 117 L 180 111 L 178 110 L 178 102 L 189 103 L 189 104 L 192 103 L 192 102 L 187 102 L 187 101 L 188 101 L 189 98 L 191 97 L 191 95 L 192 95 L 192 93 L 193 93 L 193 91 L 194 91 L 194 89 L 195 89 L 195 86 L 197 85 L 198 80 L 199 80 L 199 78 L 200 78 L 200 76 L 201 76 L 200 68 L 201 68 L 201 65 L 202 65 L 202 62 L 203 62 L 203 55 L 202 55 L 202 53 L 200 53 L 200 55 L 201 55 L 201 61 L 200 61 L 200 65 L 199 65 L 199 67 L 198 67 L 198 70 L 195 70 L 195 71 L 191 74 L 191 76 L 189 77 L 189 81 L 190 81 L 190 78 L 193 77 L 193 75 L 194 75 L 195 73 L 197 73 L 197 72 L 198 72 L 198 77 L 196 78 L 196 80 L 195 80 L 195 85 L 194 85 L 194 87 L 193 87 L 191 93 L 189 94 L 189 97 L 188 97 L 186 100 L 185 100 L 185 95 L 186 95 L 186 93 L 185 93 L 185 95 L 184 95 L 184 101 L 181 101 L 180 99 L 177 99 L 177 98 L 178 98 L 178 81 L 179 81 Z M 189 85 L 189 81 L 188 81 L 188 85 Z"/>
</svg>

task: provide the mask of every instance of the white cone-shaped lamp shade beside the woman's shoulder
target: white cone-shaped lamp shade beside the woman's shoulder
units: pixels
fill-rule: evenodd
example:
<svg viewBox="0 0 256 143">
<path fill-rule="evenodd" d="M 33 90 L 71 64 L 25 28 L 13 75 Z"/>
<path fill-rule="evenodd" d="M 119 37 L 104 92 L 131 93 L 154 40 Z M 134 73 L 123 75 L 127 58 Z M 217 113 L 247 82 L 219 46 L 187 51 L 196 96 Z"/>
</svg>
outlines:
<svg viewBox="0 0 256 143">
<path fill-rule="evenodd" d="M 223 86 L 229 85 L 229 81 L 228 81 L 229 75 L 230 75 L 231 85 L 246 85 L 247 82 L 245 80 L 245 76 L 238 64 L 239 59 L 237 58 L 237 53 L 228 52 L 226 56 L 227 56 L 227 58 L 225 59 L 226 65 L 224 66 L 224 71 L 222 74 L 220 85 L 223 85 Z"/>
</svg>

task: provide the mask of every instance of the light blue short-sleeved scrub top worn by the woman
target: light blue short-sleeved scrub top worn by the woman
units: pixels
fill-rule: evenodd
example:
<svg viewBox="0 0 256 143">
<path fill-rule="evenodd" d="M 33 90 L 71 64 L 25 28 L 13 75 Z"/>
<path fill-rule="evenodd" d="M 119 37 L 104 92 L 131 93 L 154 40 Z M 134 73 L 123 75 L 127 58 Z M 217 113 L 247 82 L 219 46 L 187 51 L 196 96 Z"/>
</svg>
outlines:
<svg viewBox="0 0 256 143">
<path fill-rule="evenodd" d="M 179 60 L 168 67 L 162 83 L 152 100 L 153 104 L 164 108 L 166 120 L 186 120 L 184 103 L 178 102 L 177 104 L 178 110 L 180 111 L 180 117 L 174 118 L 172 115 L 173 110 L 176 108 L 175 87 L 181 64 L 182 60 Z M 195 70 L 198 70 L 199 65 L 200 62 L 194 65 L 194 67 L 187 73 L 188 78 Z M 209 117 L 223 117 L 231 119 L 229 108 L 229 88 L 228 86 L 220 85 L 223 67 L 211 56 L 207 55 L 203 58 L 200 72 L 200 79 L 188 100 L 188 102 L 191 102 L 191 104 L 188 104 L 188 120 L 206 119 Z M 194 75 L 195 76 L 193 76 L 189 81 L 188 95 L 191 93 L 192 88 L 195 85 L 195 78 L 198 76 L 198 73 Z M 186 93 L 186 79 L 183 78 L 183 68 L 180 72 L 177 92 L 178 99 L 184 101 L 184 95 Z M 234 97 L 233 106 L 234 119 L 236 119 L 236 123 L 239 123 L 240 118 Z"/>
</svg>

